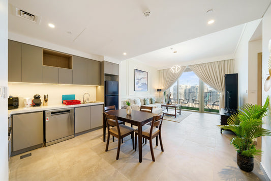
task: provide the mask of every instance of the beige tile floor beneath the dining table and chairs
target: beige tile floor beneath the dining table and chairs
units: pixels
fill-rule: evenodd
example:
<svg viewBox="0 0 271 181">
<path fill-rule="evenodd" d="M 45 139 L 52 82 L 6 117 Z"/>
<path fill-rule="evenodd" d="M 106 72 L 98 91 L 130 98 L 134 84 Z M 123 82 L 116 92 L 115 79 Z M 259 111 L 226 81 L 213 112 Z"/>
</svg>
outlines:
<svg viewBox="0 0 271 181">
<path fill-rule="evenodd" d="M 220 134 L 219 123 L 219 115 L 194 112 L 180 123 L 164 120 L 164 152 L 154 146 L 152 162 L 147 143 L 142 163 L 130 137 L 115 160 L 117 141 L 111 139 L 105 152 L 102 129 L 96 130 L 29 151 L 31 157 L 12 157 L 10 180 L 264 180 L 259 158 L 250 173 L 238 168 L 236 151 L 229 144 L 232 134 Z"/>
</svg>

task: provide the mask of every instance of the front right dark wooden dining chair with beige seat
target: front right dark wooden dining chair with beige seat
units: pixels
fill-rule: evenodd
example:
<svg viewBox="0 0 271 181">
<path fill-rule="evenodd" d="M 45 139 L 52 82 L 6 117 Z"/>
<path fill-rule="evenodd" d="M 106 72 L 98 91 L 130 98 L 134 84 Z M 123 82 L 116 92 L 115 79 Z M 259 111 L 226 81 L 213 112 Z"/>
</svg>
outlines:
<svg viewBox="0 0 271 181">
<path fill-rule="evenodd" d="M 164 113 L 158 116 L 154 116 L 151 125 L 143 125 L 142 126 L 142 138 L 146 138 L 149 140 L 149 148 L 150 153 L 152 154 L 152 159 L 155 162 L 154 150 L 153 150 L 153 139 L 159 136 L 161 150 L 164 152 L 162 137 L 161 137 L 161 128 L 163 122 Z M 159 126 L 157 128 L 157 126 Z M 137 135 L 138 129 L 135 130 L 135 151 L 137 147 Z"/>
</svg>

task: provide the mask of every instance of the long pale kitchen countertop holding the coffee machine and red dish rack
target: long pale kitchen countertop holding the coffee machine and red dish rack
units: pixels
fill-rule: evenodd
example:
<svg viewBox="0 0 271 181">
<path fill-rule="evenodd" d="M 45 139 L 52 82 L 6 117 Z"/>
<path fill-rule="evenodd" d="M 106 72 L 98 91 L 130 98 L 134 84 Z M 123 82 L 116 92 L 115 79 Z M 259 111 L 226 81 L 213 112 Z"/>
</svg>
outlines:
<svg viewBox="0 0 271 181">
<path fill-rule="evenodd" d="M 104 102 L 93 102 L 93 103 L 85 103 L 85 104 L 80 104 L 80 105 L 69 105 L 69 106 L 66 106 L 64 104 L 59 104 L 59 105 L 38 106 L 38 107 L 29 107 L 29 108 L 18 108 L 18 109 L 8 110 L 8 116 L 10 117 L 13 114 L 20 114 L 20 113 L 29 113 L 29 112 L 64 109 L 64 108 L 76 108 L 76 107 L 84 107 L 84 106 L 95 106 L 95 105 L 103 105 L 103 104 Z"/>
</svg>

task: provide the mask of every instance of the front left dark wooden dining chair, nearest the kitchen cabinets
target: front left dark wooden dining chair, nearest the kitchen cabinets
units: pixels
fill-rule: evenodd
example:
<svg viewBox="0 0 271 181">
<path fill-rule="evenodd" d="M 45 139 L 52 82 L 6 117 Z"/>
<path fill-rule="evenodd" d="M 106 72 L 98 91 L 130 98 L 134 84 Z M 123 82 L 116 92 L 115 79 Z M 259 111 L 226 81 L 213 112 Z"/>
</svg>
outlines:
<svg viewBox="0 0 271 181">
<path fill-rule="evenodd" d="M 121 150 L 121 139 L 123 139 L 124 137 L 126 137 L 128 135 L 131 135 L 133 149 L 135 148 L 134 147 L 134 128 L 129 127 L 124 124 L 118 124 L 117 117 L 114 115 L 109 115 L 107 113 L 104 113 L 104 115 L 105 115 L 105 120 L 106 120 L 106 124 L 107 124 L 107 131 L 108 131 L 105 151 L 108 151 L 110 135 L 116 137 L 118 139 L 116 160 L 118 160 L 119 150 Z M 110 128 L 110 126 L 111 126 L 111 128 Z"/>
</svg>

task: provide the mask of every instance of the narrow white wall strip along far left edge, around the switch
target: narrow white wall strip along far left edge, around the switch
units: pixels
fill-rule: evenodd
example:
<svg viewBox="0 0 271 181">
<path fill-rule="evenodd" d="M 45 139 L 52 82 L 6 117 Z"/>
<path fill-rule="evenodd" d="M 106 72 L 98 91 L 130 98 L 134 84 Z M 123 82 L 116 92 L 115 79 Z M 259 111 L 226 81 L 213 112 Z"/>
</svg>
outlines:
<svg viewBox="0 0 271 181">
<path fill-rule="evenodd" d="M 0 0 L 0 86 L 8 86 L 8 0 Z M 0 180 L 9 180 L 8 99 L 0 97 Z"/>
</svg>

